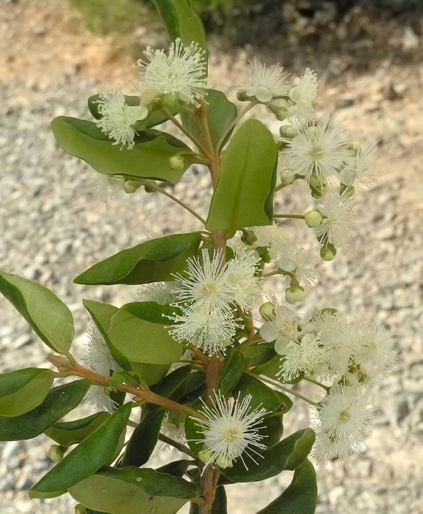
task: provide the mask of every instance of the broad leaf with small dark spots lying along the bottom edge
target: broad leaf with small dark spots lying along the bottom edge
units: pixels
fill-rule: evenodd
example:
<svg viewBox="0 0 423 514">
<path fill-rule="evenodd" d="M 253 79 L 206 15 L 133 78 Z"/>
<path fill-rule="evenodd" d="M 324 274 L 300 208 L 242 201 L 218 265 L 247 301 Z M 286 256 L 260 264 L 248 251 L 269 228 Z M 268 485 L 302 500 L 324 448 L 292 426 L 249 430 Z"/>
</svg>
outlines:
<svg viewBox="0 0 423 514">
<path fill-rule="evenodd" d="M 179 476 L 136 467 L 103 468 L 68 491 L 77 502 L 109 514 L 174 514 L 202 493 Z"/>
</svg>

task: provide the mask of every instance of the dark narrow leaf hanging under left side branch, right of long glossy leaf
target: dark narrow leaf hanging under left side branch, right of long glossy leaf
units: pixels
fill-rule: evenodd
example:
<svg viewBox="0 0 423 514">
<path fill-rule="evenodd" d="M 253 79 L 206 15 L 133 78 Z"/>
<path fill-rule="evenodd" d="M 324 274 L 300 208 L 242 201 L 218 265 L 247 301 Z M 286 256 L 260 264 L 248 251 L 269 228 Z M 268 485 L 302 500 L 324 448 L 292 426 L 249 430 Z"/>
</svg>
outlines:
<svg viewBox="0 0 423 514">
<path fill-rule="evenodd" d="M 164 409 L 147 411 L 128 441 L 120 467 L 142 466 L 149 460 L 157 444 L 164 415 Z"/>
</svg>

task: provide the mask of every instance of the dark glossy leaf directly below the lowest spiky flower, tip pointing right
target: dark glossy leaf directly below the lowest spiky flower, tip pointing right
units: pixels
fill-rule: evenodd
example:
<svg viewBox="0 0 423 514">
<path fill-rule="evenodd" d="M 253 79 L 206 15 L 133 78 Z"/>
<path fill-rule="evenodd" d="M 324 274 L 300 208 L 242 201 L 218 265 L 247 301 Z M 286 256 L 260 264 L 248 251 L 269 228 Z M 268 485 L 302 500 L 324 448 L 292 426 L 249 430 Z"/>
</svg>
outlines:
<svg viewBox="0 0 423 514">
<path fill-rule="evenodd" d="M 224 468 L 221 472 L 232 482 L 256 482 L 268 479 L 281 471 L 293 470 L 301 465 L 310 453 L 314 439 L 315 434 L 311 428 L 299 430 L 266 450 L 259 451 L 263 458 L 255 456 L 257 464 L 252 463 L 248 470 L 238 458 L 232 468 Z"/>
</svg>

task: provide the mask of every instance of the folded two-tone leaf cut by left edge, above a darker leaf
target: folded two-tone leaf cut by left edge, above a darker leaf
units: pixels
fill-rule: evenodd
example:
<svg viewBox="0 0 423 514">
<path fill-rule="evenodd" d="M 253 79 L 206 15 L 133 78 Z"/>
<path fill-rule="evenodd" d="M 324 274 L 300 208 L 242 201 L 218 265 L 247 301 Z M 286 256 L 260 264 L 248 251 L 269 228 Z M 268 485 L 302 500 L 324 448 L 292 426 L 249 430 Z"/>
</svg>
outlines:
<svg viewBox="0 0 423 514">
<path fill-rule="evenodd" d="M 0 415 L 19 416 L 39 406 L 54 377 L 50 370 L 26 368 L 0 375 Z"/>
</svg>

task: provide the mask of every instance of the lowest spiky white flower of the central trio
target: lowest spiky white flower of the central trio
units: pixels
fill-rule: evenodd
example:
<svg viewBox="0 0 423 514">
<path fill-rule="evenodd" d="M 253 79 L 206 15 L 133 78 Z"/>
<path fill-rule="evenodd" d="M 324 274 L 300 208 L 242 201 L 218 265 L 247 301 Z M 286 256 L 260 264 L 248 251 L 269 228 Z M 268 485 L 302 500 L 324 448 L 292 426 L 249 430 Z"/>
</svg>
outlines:
<svg viewBox="0 0 423 514">
<path fill-rule="evenodd" d="M 205 303 L 193 307 L 180 307 L 182 315 L 167 316 L 176 324 L 167 326 L 175 341 L 188 341 L 204 353 L 213 355 L 231 344 L 236 329 L 241 328 L 233 314 L 227 310 L 208 307 Z"/>
</svg>

